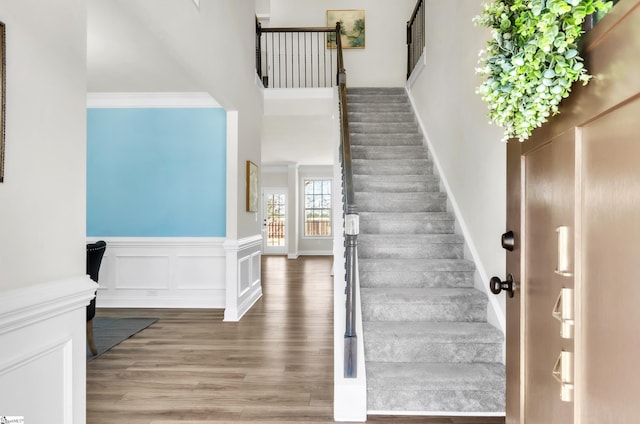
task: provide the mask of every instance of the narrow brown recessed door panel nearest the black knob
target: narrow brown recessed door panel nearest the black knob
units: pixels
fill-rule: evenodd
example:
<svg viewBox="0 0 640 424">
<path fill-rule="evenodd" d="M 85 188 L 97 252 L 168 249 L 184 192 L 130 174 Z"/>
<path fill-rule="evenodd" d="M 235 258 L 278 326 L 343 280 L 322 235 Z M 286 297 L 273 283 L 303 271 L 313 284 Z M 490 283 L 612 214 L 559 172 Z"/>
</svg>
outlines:
<svg viewBox="0 0 640 424">
<path fill-rule="evenodd" d="M 572 275 L 556 273 L 556 229 L 574 232 L 574 137 L 565 133 L 524 157 L 525 260 L 525 422 L 573 423 L 573 403 L 560 399 L 552 371 L 561 351 L 573 352 L 573 340 L 560 337 L 552 316 L 560 290 L 573 288 Z"/>
</svg>

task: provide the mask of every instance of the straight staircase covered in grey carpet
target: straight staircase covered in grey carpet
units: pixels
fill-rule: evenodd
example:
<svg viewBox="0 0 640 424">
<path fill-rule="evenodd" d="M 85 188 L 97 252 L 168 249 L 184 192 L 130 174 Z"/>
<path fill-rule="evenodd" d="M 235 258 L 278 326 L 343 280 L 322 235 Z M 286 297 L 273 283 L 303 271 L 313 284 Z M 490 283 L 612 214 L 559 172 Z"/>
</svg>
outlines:
<svg viewBox="0 0 640 424">
<path fill-rule="evenodd" d="M 370 413 L 500 413 L 502 333 L 402 88 L 350 89 Z"/>
</svg>

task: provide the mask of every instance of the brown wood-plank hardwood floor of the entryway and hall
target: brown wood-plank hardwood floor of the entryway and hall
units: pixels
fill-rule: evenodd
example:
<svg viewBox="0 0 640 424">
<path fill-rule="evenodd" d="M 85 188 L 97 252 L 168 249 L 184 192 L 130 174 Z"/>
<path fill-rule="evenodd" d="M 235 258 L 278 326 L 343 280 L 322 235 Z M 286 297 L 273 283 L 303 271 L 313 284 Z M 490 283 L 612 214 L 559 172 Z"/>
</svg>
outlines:
<svg viewBox="0 0 640 424">
<path fill-rule="evenodd" d="M 98 309 L 97 316 L 159 319 L 87 364 L 87 423 L 333 422 L 331 264 L 330 257 L 263 257 L 263 297 L 239 323 L 222 322 L 222 310 Z"/>
</svg>

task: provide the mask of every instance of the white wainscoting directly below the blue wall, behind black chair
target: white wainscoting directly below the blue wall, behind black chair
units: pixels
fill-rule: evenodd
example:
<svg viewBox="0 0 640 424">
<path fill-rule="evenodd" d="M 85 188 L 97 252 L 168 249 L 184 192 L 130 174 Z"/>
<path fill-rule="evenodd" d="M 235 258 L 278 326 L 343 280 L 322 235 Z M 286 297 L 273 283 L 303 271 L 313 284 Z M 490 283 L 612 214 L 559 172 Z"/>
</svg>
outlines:
<svg viewBox="0 0 640 424">
<path fill-rule="evenodd" d="M 224 238 L 92 237 L 107 250 L 98 307 L 224 308 Z"/>
</svg>

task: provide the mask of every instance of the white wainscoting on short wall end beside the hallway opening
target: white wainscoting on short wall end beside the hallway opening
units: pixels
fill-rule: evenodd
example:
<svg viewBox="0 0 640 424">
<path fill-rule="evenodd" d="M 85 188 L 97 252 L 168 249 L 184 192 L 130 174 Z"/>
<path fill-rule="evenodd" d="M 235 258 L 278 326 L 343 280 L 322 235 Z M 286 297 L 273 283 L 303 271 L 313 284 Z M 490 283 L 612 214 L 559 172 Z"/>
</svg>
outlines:
<svg viewBox="0 0 640 424">
<path fill-rule="evenodd" d="M 227 293 L 225 321 L 240 321 L 262 297 L 260 257 L 262 234 L 240 240 L 227 240 Z"/>
</svg>

